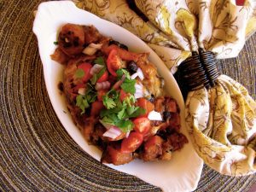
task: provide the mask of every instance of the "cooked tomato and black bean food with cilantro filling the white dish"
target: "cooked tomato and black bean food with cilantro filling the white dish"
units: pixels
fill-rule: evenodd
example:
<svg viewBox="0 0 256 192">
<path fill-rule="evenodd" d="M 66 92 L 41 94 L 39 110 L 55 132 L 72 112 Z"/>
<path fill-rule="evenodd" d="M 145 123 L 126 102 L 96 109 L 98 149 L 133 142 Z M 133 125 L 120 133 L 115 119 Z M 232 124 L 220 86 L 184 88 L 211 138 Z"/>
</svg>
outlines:
<svg viewBox="0 0 256 192">
<path fill-rule="evenodd" d="M 66 65 L 67 108 L 86 140 L 102 149 L 102 162 L 171 160 L 188 143 L 177 102 L 166 96 L 148 53 L 74 24 L 62 26 L 55 44 L 51 58 Z"/>
</svg>

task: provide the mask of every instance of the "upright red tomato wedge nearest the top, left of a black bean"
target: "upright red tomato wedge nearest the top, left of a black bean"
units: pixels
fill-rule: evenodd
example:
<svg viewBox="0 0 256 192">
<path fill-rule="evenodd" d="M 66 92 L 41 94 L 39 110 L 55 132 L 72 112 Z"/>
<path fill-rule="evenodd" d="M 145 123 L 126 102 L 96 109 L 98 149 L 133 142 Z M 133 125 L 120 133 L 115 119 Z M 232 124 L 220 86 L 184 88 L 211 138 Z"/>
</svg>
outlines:
<svg viewBox="0 0 256 192">
<path fill-rule="evenodd" d="M 117 55 L 116 49 L 112 49 L 110 51 L 107 60 L 107 67 L 108 72 L 111 73 L 114 77 L 116 77 L 117 74 L 115 72 L 122 67 L 121 60 L 119 58 L 119 55 Z"/>
</svg>

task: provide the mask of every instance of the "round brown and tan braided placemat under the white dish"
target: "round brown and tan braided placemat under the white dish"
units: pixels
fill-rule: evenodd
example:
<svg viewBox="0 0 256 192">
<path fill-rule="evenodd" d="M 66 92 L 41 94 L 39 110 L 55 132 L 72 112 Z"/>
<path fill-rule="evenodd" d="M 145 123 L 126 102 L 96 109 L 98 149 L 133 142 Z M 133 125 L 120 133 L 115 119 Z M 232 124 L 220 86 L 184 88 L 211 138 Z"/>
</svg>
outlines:
<svg viewBox="0 0 256 192">
<path fill-rule="evenodd" d="M 45 89 L 32 11 L 43 1 L 0 0 L 0 191 L 160 191 L 86 154 L 57 119 Z M 256 98 L 256 34 L 221 72 Z M 173 173 L 170 173 L 173 174 Z M 227 177 L 204 166 L 196 191 L 248 191 L 255 175 Z"/>
</svg>

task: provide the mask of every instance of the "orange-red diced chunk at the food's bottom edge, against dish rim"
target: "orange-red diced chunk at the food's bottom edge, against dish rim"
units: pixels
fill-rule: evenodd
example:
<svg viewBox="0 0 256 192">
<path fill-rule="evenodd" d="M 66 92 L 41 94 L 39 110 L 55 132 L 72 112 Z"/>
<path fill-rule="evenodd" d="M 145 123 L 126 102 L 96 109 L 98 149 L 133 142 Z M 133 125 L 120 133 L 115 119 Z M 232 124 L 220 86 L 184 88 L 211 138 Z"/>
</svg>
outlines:
<svg viewBox="0 0 256 192">
<path fill-rule="evenodd" d="M 132 154 L 122 153 L 119 151 L 119 149 L 108 146 L 105 160 L 108 163 L 113 163 L 115 166 L 123 165 L 125 163 L 129 163 L 132 160 Z"/>
</svg>

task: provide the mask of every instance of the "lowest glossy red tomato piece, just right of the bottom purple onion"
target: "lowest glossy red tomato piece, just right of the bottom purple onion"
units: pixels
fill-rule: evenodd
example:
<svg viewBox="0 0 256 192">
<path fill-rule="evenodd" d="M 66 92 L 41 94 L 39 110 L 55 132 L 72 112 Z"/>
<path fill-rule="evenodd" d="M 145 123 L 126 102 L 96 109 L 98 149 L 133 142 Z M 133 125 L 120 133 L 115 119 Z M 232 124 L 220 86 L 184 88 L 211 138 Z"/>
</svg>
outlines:
<svg viewBox="0 0 256 192">
<path fill-rule="evenodd" d="M 129 137 L 125 138 L 121 143 L 122 153 L 134 152 L 143 143 L 143 134 L 131 132 Z"/>
</svg>

